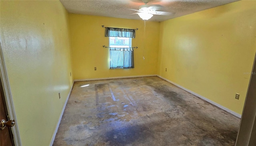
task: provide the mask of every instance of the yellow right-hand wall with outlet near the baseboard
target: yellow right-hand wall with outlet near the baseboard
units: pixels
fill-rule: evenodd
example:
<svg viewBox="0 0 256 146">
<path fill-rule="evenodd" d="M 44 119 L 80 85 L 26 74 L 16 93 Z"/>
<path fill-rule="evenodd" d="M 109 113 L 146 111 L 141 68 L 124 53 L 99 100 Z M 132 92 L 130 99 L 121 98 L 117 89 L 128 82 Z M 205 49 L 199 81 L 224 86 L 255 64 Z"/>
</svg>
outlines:
<svg viewBox="0 0 256 146">
<path fill-rule="evenodd" d="M 242 114 L 256 52 L 255 27 L 256 1 L 160 22 L 158 74 Z"/>
</svg>

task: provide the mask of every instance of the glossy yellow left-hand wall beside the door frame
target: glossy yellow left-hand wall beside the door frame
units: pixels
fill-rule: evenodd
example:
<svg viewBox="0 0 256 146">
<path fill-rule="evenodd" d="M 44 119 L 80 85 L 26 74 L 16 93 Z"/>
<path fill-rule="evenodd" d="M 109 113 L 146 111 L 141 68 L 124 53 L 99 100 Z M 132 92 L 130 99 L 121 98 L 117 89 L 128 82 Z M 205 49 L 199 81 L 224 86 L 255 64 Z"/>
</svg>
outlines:
<svg viewBox="0 0 256 146">
<path fill-rule="evenodd" d="M 21 142 L 47 146 L 73 82 L 68 13 L 59 1 L 0 3 L 0 41 Z"/>
</svg>

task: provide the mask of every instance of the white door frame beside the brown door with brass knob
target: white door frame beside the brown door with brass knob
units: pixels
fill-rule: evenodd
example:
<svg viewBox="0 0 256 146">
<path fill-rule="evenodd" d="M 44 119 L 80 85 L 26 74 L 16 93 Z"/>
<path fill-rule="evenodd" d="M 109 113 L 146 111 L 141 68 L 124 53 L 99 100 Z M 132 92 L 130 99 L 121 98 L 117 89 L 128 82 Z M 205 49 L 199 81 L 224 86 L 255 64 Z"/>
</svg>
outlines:
<svg viewBox="0 0 256 146">
<path fill-rule="evenodd" d="M 4 56 L 2 52 L 2 47 L 1 47 L 1 42 L 0 42 L 0 80 L 2 82 L 2 89 L 3 89 L 3 94 L 4 94 L 4 99 L 6 102 L 6 109 L 8 112 L 8 116 L 10 119 L 14 119 L 15 126 L 10 128 L 12 130 L 13 134 L 13 141 L 15 146 L 22 146 L 21 141 L 20 141 L 20 134 L 18 130 L 18 123 L 17 123 L 17 118 L 14 110 L 14 104 L 12 100 L 12 93 L 10 90 L 10 85 L 9 85 L 9 80 L 8 80 L 8 75 L 6 72 L 6 66 L 4 63 Z"/>
</svg>

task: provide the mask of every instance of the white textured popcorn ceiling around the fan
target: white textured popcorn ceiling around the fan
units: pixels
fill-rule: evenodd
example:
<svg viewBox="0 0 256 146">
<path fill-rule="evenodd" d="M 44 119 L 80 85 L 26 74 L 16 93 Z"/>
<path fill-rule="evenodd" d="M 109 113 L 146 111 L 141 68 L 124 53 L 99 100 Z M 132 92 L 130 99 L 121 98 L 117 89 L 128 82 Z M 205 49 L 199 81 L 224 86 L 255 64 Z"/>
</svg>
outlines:
<svg viewBox="0 0 256 146">
<path fill-rule="evenodd" d="M 221 6 L 238 0 L 148 0 L 148 4 L 157 4 L 159 11 L 168 15 L 154 15 L 150 21 L 164 21 L 186 14 Z M 135 10 L 143 5 L 142 0 L 60 0 L 70 13 L 116 18 L 140 19 Z M 134 10 L 130 10 L 134 9 Z"/>
</svg>

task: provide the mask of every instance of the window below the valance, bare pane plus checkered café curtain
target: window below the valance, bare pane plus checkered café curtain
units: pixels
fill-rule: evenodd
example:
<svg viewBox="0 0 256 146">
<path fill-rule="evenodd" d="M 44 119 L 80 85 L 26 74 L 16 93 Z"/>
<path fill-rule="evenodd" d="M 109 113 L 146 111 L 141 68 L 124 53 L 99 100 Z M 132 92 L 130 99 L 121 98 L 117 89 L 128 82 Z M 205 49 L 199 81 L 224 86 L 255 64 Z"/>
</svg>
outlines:
<svg viewBox="0 0 256 146">
<path fill-rule="evenodd" d="M 110 69 L 134 68 L 132 38 L 109 37 Z"/>
</svg>

